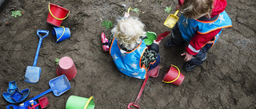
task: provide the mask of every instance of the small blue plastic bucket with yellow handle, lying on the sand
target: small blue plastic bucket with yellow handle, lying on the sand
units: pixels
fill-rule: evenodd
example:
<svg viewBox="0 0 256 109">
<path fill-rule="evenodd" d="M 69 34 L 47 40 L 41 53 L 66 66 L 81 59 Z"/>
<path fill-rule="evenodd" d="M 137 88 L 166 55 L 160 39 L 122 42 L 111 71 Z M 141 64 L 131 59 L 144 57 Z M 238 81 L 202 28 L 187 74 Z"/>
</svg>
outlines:
<svg viewBox="0 0 256 109">
<path fill-rule="evenodd" d="M 54 27 L 52 31 L 53 31 L 53 35 L 56 35 L 56 37 L 57 37 L 57 40 L 55 43 L 58 43 L 60 41 L 64 41 L 64 40 L 70 38 L 70 29 L 69 28 L 65 28 L 63 26 Z"/>
</svg>

